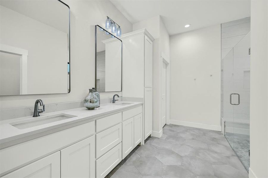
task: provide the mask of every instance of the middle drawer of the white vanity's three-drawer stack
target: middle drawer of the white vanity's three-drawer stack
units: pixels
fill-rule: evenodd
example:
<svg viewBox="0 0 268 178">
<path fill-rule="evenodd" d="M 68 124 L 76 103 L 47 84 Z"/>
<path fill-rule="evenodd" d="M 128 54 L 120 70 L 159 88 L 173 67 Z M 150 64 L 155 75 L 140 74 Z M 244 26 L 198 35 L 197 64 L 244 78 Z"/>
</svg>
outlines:
<svg viewBox="0 0 268 178">
<path fill-rule="evenodd" d="M 96 158 L 122 141 L 122 123 L 96 134 Z"/>
</svg>

